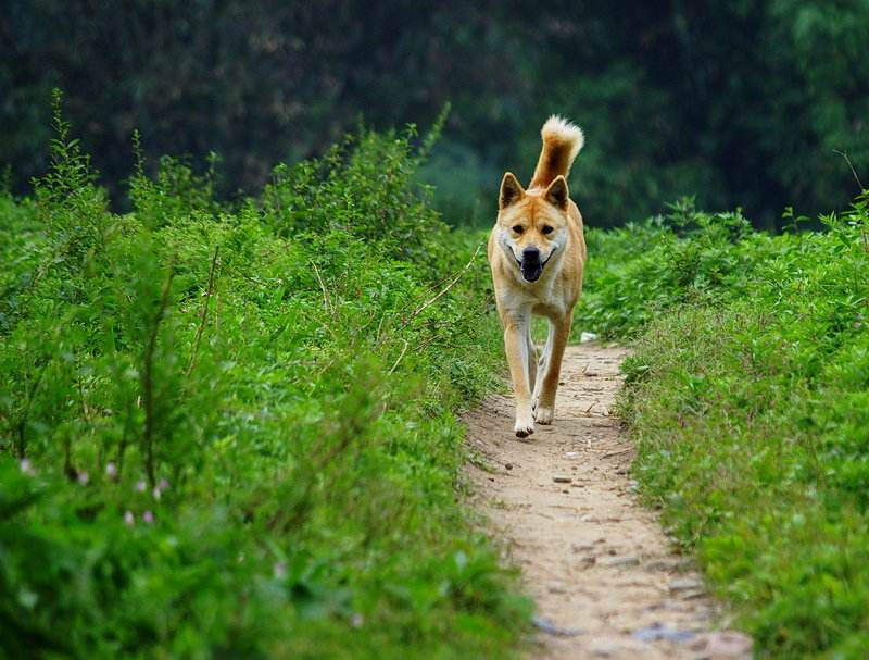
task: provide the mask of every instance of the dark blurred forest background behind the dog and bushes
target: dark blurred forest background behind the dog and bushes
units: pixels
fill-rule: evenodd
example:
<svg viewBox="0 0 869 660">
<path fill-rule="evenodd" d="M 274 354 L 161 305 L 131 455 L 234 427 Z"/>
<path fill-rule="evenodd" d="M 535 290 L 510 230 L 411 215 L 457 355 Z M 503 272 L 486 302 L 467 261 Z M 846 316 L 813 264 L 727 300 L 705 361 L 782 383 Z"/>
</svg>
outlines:
<svg viewBox="0 0 869 660">
<path fill-rule="evenodd" d="M 592 226 L 680 195 L 760 226 L 814 216 L 869 178 L 869 0 L 437 3 L 11 0 L 0 13 L 0 163 L 48 167 L 51 89 L 124 207 L 146 154 L 223 161 L 226 197 L 362 122 L 431 125 L 425 170 L 450 222 L 487 224 L 550 113 L 587 133 L 572 192 Z"/>
</svg>

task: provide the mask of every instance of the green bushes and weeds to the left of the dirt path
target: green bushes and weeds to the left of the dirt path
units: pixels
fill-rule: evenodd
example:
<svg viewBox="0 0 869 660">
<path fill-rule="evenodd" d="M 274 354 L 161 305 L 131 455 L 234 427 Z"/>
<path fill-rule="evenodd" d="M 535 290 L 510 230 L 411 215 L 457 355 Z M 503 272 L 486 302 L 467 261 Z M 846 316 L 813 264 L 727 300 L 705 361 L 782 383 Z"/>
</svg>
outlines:
<svg viewBox="0 0 869 660">
<path fill-rule="evenodd" d="M 512 657 L 527 601 L 457 503 L 500 335 L 412 136 L 232 209 L 164 159 L 116 215 L 56 128 L 0 195 L 0 656 Z"/>
</svg>

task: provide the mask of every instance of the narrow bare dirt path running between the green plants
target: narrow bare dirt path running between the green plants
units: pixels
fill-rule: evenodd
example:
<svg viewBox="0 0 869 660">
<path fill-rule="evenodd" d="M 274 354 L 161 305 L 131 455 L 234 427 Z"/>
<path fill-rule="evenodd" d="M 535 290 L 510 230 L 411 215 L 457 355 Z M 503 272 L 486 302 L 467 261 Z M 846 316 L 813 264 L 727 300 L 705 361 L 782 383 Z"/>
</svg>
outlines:
<svg viewBox="0 0 869 660">
<path fill-rule="evenodd" d="M 633 496 L 632 446 L 609 414 L 625 356 L 569 347 L 555 423 L 527 440 L 509 397 L 467 415 L 487 466 L 469 468 L 480 505 L 538 603 L 533 657 L 746 657 L 744 636 L 707 632 L 717 614 L 700 576 Z"/>
</svg>

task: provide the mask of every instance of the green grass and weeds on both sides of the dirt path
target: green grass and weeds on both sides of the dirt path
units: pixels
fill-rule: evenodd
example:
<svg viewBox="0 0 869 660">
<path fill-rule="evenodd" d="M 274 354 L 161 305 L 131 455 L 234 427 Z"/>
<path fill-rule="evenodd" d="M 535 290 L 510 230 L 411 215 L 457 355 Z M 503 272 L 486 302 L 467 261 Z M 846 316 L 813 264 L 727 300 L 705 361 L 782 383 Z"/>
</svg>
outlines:
<svg viewBox="0 0 869 660">
<path fill-rule="evenodd" d="M 0 655 L 518 656 L 457 418 L 500 326 L 481 236 L 414 183 L 431 140 L 362 134 L 234 204 L 139 163 L 118 215 L 56 124 L 0 194 Z M 869 646 L 869 196 L 822 222 L 591 229 L 577 311 L 634 344 L 643 496 L 760 657 Z"/>
</svg>

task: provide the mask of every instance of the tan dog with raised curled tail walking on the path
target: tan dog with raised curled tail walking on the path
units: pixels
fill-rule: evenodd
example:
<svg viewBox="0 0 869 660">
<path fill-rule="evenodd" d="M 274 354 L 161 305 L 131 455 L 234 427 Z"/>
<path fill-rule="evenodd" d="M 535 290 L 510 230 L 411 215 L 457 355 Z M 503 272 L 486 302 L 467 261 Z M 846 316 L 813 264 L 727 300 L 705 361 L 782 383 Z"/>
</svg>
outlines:
<svg viewBox="0 0 869 660">
<path fill-rule="evenodd" d="M 534 422 L 552 424 L 562 358 L 585 264 L 582 215 L 567 188 L 567 175 L 584 135 L 556 115 L 540 133 L 543 149 L 528 189 L 511 172 L 504 174 L 488 245 L 516 397 L 514 431 L 520 438 L 534 432 Z M 550 324 L 539 362 L 531 340 L 532 314 L 545 316 Z"/>
</svg>

